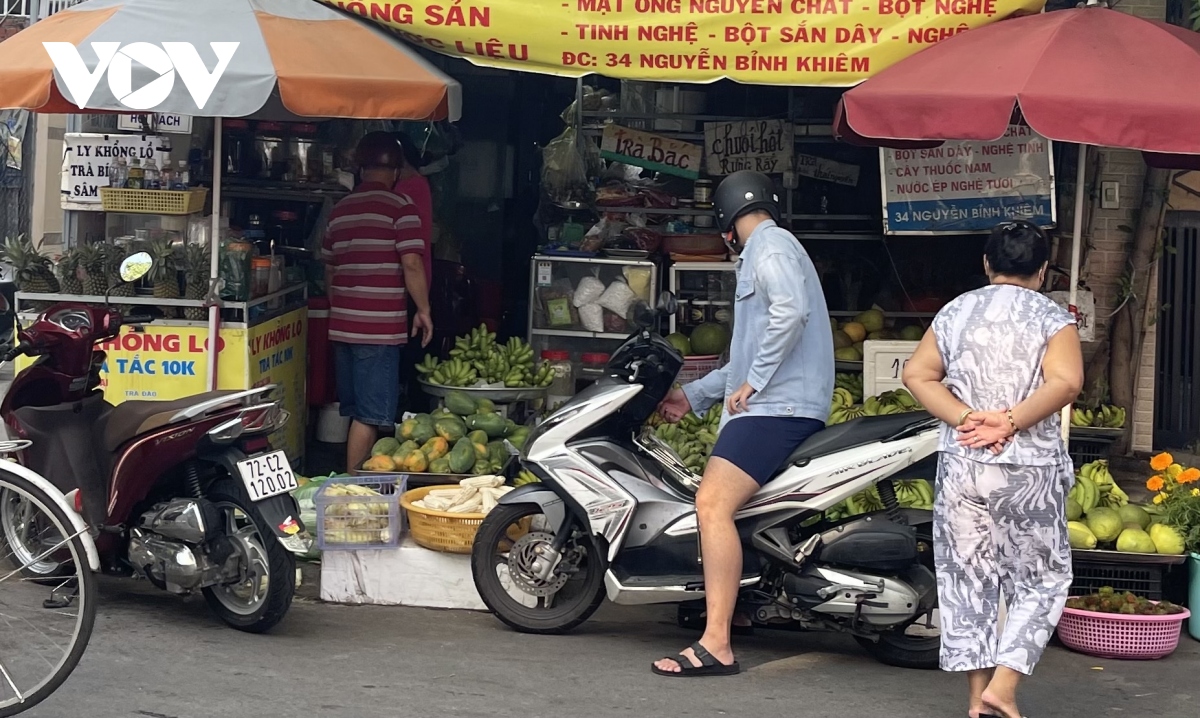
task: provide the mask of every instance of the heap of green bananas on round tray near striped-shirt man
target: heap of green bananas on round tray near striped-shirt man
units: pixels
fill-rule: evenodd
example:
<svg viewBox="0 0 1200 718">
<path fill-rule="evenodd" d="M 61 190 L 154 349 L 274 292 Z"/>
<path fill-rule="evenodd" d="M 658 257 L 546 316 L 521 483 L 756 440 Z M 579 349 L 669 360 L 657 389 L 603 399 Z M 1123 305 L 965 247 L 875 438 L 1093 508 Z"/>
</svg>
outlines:
<svg viewBox="0 0 1200 718">
<path fill-rule="evenodd" d="M 449 360 L 430 354 L 416 371 L 439 387 L 521 389 L 548 387 L 554 381 L 548 363 L 534 365 L 533 347 L 517 337 L 498 345 L 496 333 L 485 325 L 460 336 Z"/>
</svg>

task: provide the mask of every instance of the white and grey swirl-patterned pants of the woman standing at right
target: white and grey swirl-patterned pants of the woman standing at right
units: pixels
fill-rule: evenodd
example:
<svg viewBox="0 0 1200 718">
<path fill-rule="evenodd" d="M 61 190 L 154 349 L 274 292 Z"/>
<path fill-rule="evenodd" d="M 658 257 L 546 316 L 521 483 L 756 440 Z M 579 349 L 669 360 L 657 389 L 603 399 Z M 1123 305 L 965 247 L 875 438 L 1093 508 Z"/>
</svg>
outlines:
<svg viewBox="0 0 1200 718">
<path fill-rule="evenodd" d="M 1066 502 L 1074 480 L 1069 461 L 1016 466 L 938 457 L 934 558 L 942 670 L 1002 665 L 1033 672 L 1070 588 Z"/>
</svg>

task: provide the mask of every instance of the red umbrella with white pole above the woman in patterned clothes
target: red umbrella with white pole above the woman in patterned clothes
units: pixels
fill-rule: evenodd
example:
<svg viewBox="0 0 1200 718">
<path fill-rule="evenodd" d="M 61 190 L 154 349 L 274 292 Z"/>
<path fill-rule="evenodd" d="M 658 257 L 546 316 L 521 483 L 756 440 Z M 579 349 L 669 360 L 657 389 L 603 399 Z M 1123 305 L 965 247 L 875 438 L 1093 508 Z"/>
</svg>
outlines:
<svg viewBox="0 0 1200 718">
<path fill-rule="evenodd" d="M 847 91 L 834 119 L 842 139 L 883 146 L 998 139 L 1014 120 L 1084 145 L 1072 305 L 1087 145 L 1142 150 L 1159 167 L 1193 167 L 1187 155 L 1200 155 L 1200 34 L 1088 2 L 944 40 Z"/>
</svg>

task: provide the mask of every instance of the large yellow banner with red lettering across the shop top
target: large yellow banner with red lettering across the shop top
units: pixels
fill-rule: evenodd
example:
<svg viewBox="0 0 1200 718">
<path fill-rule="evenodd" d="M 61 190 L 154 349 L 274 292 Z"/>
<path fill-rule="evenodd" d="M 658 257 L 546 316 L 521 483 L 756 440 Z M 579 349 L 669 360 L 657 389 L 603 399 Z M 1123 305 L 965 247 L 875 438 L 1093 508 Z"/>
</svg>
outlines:
<svg viewBox="0 0 1200 718">
<path fill-rule="evenodd" d="M 476 65 L 569 77 L 853 85 L 1045 0 L 322 0 Z"/>
</svg>

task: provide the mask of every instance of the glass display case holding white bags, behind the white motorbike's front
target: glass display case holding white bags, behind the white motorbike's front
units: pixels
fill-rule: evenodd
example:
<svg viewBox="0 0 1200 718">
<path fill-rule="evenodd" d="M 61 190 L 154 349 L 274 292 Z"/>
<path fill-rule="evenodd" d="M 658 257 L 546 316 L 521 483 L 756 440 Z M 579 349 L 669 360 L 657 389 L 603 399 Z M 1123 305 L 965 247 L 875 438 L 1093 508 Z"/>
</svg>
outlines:
<svg viewBox="0 0 1200 718">
<path fill-rule="evenodd" d="M 599 376 L 607 355 L 634 330 L 626 319 L 632 303 L 658 295 L 659 269 L 647 259 L 536 255 L 532 269 L 534 358 L 570 361 L 578 387 Z"/>
</svg>

